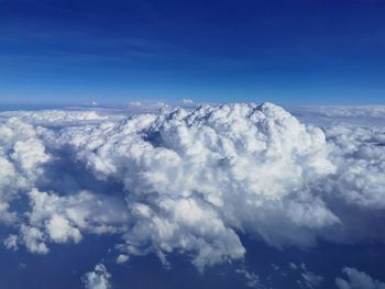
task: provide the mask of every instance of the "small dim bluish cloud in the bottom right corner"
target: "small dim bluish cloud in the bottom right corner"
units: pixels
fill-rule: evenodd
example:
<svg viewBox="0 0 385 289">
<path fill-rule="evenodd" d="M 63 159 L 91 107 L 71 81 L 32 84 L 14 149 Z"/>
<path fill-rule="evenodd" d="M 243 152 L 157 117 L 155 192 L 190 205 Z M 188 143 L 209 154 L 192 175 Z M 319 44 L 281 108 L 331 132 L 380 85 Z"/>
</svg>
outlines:
<svg viewBox="0 0 385 289">
<path fill-rule="evenodd" d="M 344 267 L 342 273 L 348 279 L 336 278 L 336 286 L 339 289 L 384 289 L 385 282 L 373 279 L 366 273 L 355 268 Z"/>
</svg>

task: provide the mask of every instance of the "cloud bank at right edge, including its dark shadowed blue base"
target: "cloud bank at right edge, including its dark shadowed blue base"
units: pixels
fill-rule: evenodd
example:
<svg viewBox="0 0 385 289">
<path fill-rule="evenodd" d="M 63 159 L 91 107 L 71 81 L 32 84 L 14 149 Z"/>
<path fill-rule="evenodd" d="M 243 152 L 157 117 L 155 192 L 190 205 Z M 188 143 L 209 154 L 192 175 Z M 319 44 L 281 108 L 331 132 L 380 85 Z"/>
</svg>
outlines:
<svg viewBox="0 0 385 289">
<path fill-rule="evenodd" d="M 385 241 L 385 130 L 333 125 L 326 130 L 334 175 L 320 188 L 341 225 L 330 238 L 349 243 Z"/>
</svg>

